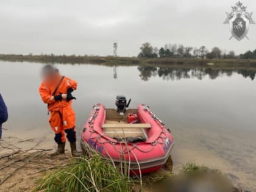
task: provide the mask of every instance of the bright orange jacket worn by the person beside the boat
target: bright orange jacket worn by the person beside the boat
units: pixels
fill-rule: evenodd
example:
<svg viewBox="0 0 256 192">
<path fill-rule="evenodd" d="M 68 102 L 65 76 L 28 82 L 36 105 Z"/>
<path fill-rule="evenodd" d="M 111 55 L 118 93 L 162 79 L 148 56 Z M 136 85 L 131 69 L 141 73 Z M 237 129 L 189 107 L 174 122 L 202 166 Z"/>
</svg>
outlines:
<svg viewBox="0 0 256 192">
<path fill-rule="evenodd" d="M 51 83 L 49 82 L 42 82 L 39 87 L 39 93 L 44 103 L 48 104 L 48 110 L 51 111 L 58 111 L 61 107 L 65 107 L 68 104 L 71 104 L 72 100 L 67 102 L 66 99 L 62 99 L 62 101 L 55 101 L 52 98 L 52 93 L 54 92 L 55 88 L 60 82 L 62 76 L 60 74 L 52 80 Z M 56 91 L 55 95 L 66 93 L 68 88 L 73 88 L 76 90 L 77 82 L 73 79 L 69 79 L 68 77 L 64 77 L 62 83 L 60 84 L 58 90 Z"/>
</svg>

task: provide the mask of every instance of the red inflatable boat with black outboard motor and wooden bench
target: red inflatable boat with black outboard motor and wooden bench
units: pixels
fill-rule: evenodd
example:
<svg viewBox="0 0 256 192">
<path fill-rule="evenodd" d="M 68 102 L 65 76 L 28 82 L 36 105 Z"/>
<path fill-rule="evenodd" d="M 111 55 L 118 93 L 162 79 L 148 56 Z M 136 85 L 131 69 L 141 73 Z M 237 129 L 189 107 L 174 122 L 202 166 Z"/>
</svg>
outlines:
<svg viewBox="0 0 256 192">
<path fill-rule="evenodd" d="M 89 146 L 115 163 L 126 163 L 133 175 L 157 171 L 170 156 L 174 138 L 148 106 L 126 109 L 128 105 L 124 96 L 117 96 L 117 109 L 94 105 L 81 147 Z"/>
</svg>

